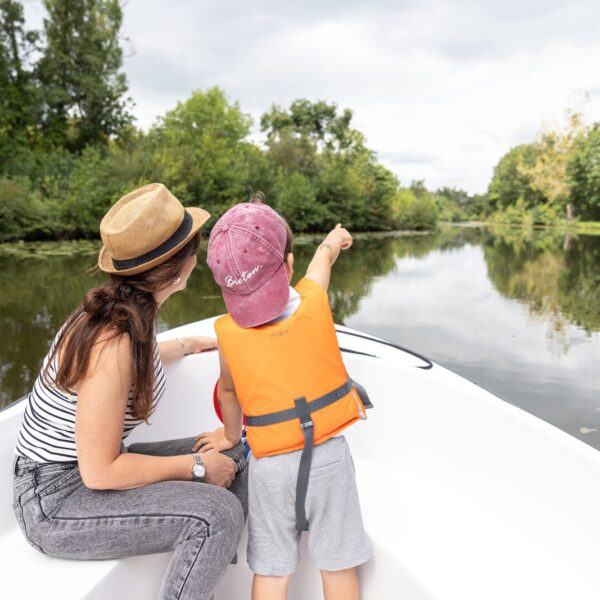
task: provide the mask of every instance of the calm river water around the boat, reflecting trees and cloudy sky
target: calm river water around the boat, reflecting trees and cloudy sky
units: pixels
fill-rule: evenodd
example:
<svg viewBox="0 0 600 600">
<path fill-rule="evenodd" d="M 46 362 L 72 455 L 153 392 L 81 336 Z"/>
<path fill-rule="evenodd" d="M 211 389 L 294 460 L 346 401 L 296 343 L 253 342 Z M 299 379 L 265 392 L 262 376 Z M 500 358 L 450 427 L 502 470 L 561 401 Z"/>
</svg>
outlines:
<svg viewBox="0 0 600 600">
<path fill-rule="evenodd" d="M 319 239 L 298 240 L 298 277 Z M 57 328 L 102 280 L 88 272 L 98 247 L 0 246 L 0 407 L 28 392 Z M 161 330 L 224 312 L 204 259 L 161 309 Z M 330 299 L 338 323 L 425 354 L 600 449 L 600 236 L 357 235 Z"/>
</svg>

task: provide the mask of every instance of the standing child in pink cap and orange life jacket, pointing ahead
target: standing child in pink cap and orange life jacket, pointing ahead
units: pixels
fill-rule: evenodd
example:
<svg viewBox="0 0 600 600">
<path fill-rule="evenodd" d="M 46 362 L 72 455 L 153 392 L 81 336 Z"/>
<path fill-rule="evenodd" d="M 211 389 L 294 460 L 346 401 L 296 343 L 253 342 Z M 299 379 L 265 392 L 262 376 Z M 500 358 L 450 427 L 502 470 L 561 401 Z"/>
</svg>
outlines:
<svg viewBox="0 0 600 600">
<path fill-rule="evenodd" d="M 292 235 L 269 206 L 238 204 L 210 235 L 207 261 L 229 310 L 215 323 L 224 429 L 199 444 L 233 447 L 246 416 L 253 600 L 286 598 L 302 530 L 326 600 L 358 600 L 355 567 L 371 556 L 354 466 L 337 435 L 366 417 L 368 399 L 348 378 L 327 299 L 331 267 L 351 244 L 337 225 L 292 288 Z"/>
</svg>

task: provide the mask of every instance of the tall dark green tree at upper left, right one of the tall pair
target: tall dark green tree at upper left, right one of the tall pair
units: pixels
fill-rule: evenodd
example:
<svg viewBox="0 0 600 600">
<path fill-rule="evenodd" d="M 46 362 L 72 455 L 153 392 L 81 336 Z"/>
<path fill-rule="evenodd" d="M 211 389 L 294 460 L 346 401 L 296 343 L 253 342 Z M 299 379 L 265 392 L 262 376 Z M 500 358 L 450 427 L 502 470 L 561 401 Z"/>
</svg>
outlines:
<svg viewBox="0 0 600 600">
<path fill-rule="evenodd" d="M 121 71 L 121 6 L 118 0 L 44 0 L 44 6 L 38 72 L 46 139 L 72 151 L 106 143 L 132 119 Z"/>
</svg>

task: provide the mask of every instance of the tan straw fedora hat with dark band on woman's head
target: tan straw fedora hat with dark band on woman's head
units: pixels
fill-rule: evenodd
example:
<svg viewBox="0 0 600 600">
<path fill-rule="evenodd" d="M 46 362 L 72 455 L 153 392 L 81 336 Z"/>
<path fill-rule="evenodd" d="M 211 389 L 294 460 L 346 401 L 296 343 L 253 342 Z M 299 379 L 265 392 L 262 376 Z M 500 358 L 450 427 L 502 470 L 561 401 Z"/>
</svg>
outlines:
<svg viewBox="0 0 600 600">
<path fill-rule="evenodd" d="M 148 271 L 183 248 L 209 218 L 202 208 L 184 208 L 162 183 L 138 188 L 102 219 L 98 266 L 115 275 Z"/>
</svg>

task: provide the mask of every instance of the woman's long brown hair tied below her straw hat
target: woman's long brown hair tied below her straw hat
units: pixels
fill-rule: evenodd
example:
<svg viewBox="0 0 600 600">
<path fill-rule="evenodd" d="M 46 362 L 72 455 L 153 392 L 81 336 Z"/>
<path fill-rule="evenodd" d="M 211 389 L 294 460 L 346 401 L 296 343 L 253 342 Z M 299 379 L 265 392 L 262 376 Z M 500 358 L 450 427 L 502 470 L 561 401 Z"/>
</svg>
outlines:
<svg viewBox="0 0 600 600">
<path fill-rule="evenodd" d="M 200 247 L 198 232 L 177 254 L 138 275 L 111 275 L 91 289 L 67 319 L 44 369 L 46 382 L 65 393 L 74 393 L 90 367 L 90 354 L 102 334 L 111 339 L 128 334 L 131 340 L 132 406 L 135 418 L 147 420 L 154 395 L 154 336 L 158 305 L 154 294 L 179 276 L 183 263 Z M 103 336 L 103 339 L 104 338 Z M 49 368 L 59 357 L 56 375 Z"/>
</svg>

